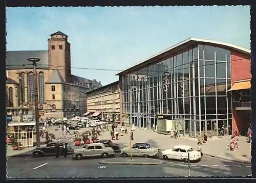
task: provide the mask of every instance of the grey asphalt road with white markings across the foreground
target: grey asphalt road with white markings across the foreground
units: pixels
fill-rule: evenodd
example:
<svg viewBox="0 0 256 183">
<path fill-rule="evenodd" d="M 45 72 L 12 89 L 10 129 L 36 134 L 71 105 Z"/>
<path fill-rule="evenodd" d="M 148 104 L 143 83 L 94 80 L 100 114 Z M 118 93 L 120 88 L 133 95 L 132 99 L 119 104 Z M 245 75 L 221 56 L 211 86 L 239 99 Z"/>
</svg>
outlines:
<svg viewBox="0 0 256 183">
<path fill-rule="evenodd" d="M 11 157 L 7 162 L 7 175 L 12 178 L 69 178 L 69 177 L 174 177 L 187 176 L 186 163 L 168 160 L 160 165 L 102 165 L 102 159 L 72 160 L 60 156 L 41 158 Z M 203 157 L 191 163 L 190 176 L 246 176 L 249 164 Z"/>
</svg>

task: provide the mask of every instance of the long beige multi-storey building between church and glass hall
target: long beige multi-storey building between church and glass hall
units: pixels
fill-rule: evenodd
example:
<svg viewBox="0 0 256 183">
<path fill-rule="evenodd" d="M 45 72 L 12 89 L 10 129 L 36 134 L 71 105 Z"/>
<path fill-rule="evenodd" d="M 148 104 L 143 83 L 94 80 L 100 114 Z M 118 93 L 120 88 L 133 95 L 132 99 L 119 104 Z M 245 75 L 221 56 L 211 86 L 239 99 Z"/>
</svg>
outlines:
<svg viewBox="0 0 256 183">
<path fill-rule="evenodd" d="M 87 113 L 106 121 L 120 121 L 119 81 L 87 92 Z"/>
</svg>

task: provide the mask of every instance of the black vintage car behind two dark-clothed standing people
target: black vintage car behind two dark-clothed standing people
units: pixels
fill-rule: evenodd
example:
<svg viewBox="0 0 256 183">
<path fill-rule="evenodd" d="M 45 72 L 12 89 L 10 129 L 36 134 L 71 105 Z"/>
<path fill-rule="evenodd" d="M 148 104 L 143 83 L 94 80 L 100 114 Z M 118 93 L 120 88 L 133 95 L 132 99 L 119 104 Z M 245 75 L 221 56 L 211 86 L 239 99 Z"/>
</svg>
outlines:
<svg viewBox="0 0 256 183">
<path fill-rule="evenodd" d="M 32 155 L 34 157 L 42 156 L 42 155 L 53 155 L 56 153 L 56 143 L 59 143 L 59 147 L 61 150 L 65 142 L 59 142 L 59 141 L 49 142 L 45 147 L 37 147 L 36 149 L 34 149 L 32 152 Z M 74 149 L 72 149 L 72 147 L 70 147 L 69 145 L 67 146 L 67 149 L 68 149 L 68 154 L 74 153 Z M 60 151 L 60 154 L 62 154 L 62 151 Z"/>
</svg>

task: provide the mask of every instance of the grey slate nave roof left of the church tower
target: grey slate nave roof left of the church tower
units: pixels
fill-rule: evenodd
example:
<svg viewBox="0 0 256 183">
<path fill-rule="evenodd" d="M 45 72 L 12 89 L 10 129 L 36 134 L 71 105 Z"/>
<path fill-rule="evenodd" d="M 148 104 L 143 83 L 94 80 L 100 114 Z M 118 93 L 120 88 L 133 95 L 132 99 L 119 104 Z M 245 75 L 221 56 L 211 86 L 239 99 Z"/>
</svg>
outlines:
<svg viewBox="0 0 256 183">
<path fill-rule="evenodd" d="M 36 57 L 40 59 L 38 69 L 46 69 L 49 67 L 49 58 L 47 50 L 31 50 L 31 51 L 7 51 L 6 52 L 6 69 L 33 69 L 32 63 L 28 62 L 28 58 Z"/>
</svg>

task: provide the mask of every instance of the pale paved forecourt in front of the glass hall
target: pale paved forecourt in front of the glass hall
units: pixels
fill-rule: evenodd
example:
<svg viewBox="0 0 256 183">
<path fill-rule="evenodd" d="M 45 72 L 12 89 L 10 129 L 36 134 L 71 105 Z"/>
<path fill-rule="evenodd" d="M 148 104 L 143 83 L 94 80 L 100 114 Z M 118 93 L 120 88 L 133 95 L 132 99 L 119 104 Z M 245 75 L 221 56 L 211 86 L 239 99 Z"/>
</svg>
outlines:
<svg viewBox="0 0 256 183">
<path fill-rule="evenodd" d="M 130 130 L 131 127 L 127 127 L 127 132 L 130 132 Z M 101 138 L 102 137 L 100 136 L 99 139 Z M 103 139 L 111 139 L 110 131 L 103 133 Z M 207 143 L 202 145 L 202 151 L 205 155 L 213 156 L 215 158 L 250 163 L 250 144 L 246 142 L 246 137 L 239 138 L 239 149 L 236 151 L 227 150 L 230 139 L 231 137 L 208 138 Z M 176 145 L 189 145 L 193 149 L 197 149 L 197 141 L 198 140 L 196 138 L 183 137 L 183 135 L 180 135 L 180 137 L 174 139 L 170 138 L 169 135 L 158 134 L 145 129 L 136 129 L 134 131 L 134 140 L 132 141 L 132 144 L 137 142 L 145 142 L 161 150 L 170 149 Z M 120 143 L 122 147 L 130 146 L 129 134 L 119 136 L 119 139 L 113 140 L 113 142 Z"/>
</svg>

